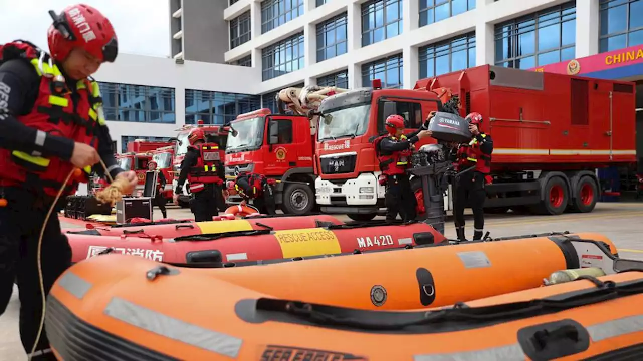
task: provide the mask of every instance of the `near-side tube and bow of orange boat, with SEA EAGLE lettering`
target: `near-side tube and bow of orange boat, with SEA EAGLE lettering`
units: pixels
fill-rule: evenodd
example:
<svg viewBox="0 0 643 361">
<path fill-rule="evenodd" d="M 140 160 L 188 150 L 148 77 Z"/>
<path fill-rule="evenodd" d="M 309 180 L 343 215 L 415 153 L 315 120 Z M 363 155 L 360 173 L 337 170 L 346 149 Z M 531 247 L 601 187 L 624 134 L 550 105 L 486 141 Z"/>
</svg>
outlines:
<svg viewBox="0 0 643 361">
<path fill-rule="evenodd" d="M 313 262 L 301 264 L 306 263 Z M 105 361 L 282 360 L 284 355 L 289 360 L 620 360 L 643 352 L 640 270 L 639 265 L 638 272 L 453 308 L 392 312 L 297 302 L 306 290 L 294 300 L 276 299 L 203 270 L 107 255 L 74 265 L 56 281 L 46 331 L 53 352 L 65 361 L 98 355 Z M 488 280 L 489 288 L 512 283 L 512 276 Z M 345 277 L 335 272 L 326 281 L 337 284 Z M 453 289 L 464 294 L 470 285 Z"/>
</svg>

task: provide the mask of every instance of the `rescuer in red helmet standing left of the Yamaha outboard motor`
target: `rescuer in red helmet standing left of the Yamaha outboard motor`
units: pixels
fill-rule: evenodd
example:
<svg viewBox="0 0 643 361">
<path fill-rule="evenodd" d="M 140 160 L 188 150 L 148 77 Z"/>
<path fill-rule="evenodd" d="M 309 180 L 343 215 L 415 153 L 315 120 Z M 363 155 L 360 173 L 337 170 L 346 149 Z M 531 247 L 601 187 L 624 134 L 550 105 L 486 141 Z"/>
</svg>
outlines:
<svg viewBox="0 0 643 361">
<path fill-rule="evenodd" d="M 386 185 L 386 219 L 394 220 L 399 213 L 403 220 L 413 220 L 417 216 L 417 200 L 406 170 L 411 165 L 413 145 L 431 136 L 431 131 L 419 129 L 405 136 L 404 118 L 397 114 L 386 118 L 385 128 L 388 134 L 375 139 L 374 145 L 382 172 L 380 184 Z"/>
</svg>

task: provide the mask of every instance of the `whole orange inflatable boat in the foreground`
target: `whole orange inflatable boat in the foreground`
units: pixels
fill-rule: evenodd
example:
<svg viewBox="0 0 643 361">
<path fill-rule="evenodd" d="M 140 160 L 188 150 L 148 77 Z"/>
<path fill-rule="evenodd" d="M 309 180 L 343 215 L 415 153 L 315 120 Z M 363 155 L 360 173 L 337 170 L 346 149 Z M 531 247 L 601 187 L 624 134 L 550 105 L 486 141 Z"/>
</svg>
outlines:
<svg viewBox="0 0 643 361">
<path fill-rule="evenodd" d="M 541 287 L 584 255 L 610 275 Z M 66 361 L 622 359 L 643 351 L 643 272 L 629 270 L 643 262 L 546 237 L 218 270 L 107 255 L 56 281 L 46 330 Z M 366 306 L 377 286 L 388 299 Z"/>
</svg>

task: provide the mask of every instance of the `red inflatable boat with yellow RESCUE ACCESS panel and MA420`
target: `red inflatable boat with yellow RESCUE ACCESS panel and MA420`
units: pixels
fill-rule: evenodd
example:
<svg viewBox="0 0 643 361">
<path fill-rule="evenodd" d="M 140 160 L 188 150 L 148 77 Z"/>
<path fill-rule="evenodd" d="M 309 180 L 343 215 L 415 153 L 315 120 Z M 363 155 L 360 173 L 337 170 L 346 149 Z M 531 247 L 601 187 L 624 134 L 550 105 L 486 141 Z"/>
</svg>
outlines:
<svg viewBox="0 0 643 361">
<path fill-rule="evenodd" d="M 293 217 L 297 218 L 297 217 Z M 120 252 L 166 263 L 213 263 L 275 260 L 377 251 L 408 245 L 439 243 L 445 240 L 430 225 L 422 222 L 370 222 L 333 224 L 307 229 L 276 230 L 264 220 L 251 220 L 255 227 L 224 233 L 197 234 L 171 239 L 130 236 L 92 236 L 67 234 L 73 262 L 108 252 Z M 275 218 L 278 225 L 284 218 Z M 230 224 L 235 221 L 215 222 Z"/>
</svg>

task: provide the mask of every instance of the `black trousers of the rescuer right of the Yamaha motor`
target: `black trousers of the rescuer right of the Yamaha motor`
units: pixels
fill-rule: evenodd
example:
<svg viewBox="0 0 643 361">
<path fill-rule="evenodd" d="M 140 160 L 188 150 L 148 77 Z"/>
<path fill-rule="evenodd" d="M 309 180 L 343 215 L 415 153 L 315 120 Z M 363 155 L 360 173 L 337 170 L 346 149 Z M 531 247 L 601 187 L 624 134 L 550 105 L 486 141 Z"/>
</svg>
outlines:
<svg viewBox="0 0 643 361">
<path fill-rule="evenodd" d="M 482 239 L 484 229 L 484 201 L 487 192 L 484 189 L 485 175 L 469 171 L 462 173 L 455 181 L 455 199 L 453 200 L 453 218 L 458 240 L 466 240 L 464 234 L 464 208 L 469 204 L 473 211 L 473 240 Z"/>
</svg>

